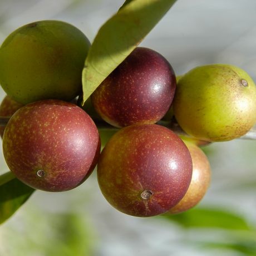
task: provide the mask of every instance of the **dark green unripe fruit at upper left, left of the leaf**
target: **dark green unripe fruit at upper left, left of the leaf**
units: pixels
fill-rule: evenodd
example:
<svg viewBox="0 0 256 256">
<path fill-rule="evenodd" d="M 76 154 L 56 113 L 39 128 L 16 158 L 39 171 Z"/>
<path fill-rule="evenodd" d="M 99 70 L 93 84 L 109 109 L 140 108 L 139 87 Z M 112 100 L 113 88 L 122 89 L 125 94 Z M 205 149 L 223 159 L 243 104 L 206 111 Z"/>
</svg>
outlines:
<svg viewBox="0 0 256 256">
<path fill-rule="evenodd" d="M 12 32 L 0 48 L 0 84 L 21 104 L 70 101 L 82 90 L 81 74 L 90 42 L 76 27 L 38 21 Z"/>
</svg>

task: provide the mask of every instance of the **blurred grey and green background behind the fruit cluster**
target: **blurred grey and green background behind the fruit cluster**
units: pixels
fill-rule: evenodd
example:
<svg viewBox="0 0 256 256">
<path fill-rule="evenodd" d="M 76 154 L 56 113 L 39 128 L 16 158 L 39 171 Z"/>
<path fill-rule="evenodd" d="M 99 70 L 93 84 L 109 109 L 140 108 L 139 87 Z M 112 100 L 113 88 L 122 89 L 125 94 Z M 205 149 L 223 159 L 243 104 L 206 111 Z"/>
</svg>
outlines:
<svg viewBox="0 0 256 256">
<path fill-rule="evenodd" d="M 0 0 L 0 44 L 41 19 L 69 22 L 89 38 L 122 0 Z M 178 0 L 141 43 L 164 55 L 176 75 L 230 63 L 256 81 L 256 1 Z M 0 88 L 0 100 L 4 97 Z M 1 143 L 1 142 L 0 142 Z M 175 216 L 135 218 L 112 208 L 96 175 L 65 193 L 36 191 L 0 227 L 0 256 L 256 255 L 256 141 L 203 148 L 212 169 L 208 193 Z M 0 149 L 0 170 L 8 170 Z"/>
</svg>

